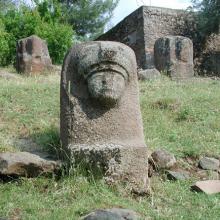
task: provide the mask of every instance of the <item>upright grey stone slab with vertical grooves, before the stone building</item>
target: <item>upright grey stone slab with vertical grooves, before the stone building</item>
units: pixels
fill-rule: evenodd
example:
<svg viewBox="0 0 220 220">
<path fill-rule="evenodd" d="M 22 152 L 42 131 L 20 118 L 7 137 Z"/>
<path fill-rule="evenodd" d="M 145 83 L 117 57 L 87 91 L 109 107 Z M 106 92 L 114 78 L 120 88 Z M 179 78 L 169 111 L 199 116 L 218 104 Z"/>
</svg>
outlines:
<svg viewBox="0 0 220 220">
<path fill-rule="evenodd" d="M 172 79 L 188 79 L 194 76 L 193 43 L 182 36 L 159 38 L 154 45 L 154 61 L 159 71 Z"/>
</svg>

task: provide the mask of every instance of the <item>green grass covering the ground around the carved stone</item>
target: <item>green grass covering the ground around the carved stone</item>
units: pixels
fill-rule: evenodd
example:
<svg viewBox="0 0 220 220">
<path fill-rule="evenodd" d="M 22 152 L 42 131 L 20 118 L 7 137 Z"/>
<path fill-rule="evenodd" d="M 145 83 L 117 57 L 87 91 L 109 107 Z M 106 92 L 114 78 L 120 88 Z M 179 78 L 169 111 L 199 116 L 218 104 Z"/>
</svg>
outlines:
<svg viewBox="0 0 220 220">
<path fill-rule="evenodd" d="M 220 155 L 220 81 L 176 83 L 166 78 L 140 84 L 146 143 L 178 158 Z M 0 151 L 16 151 L 16 140 L 59 147 L 59 77 L 0 78 Z M 0 217 L 79 219 L 98 208 L 123 207 L 143 219 L 210 219 L 220 216 L 220 195 L 190 191 L 183 182 L 151 179 L 152 195 L 133 198 L 123 187 L 80 176 L 36 178 L 0 184 Z"/>
</svg>

